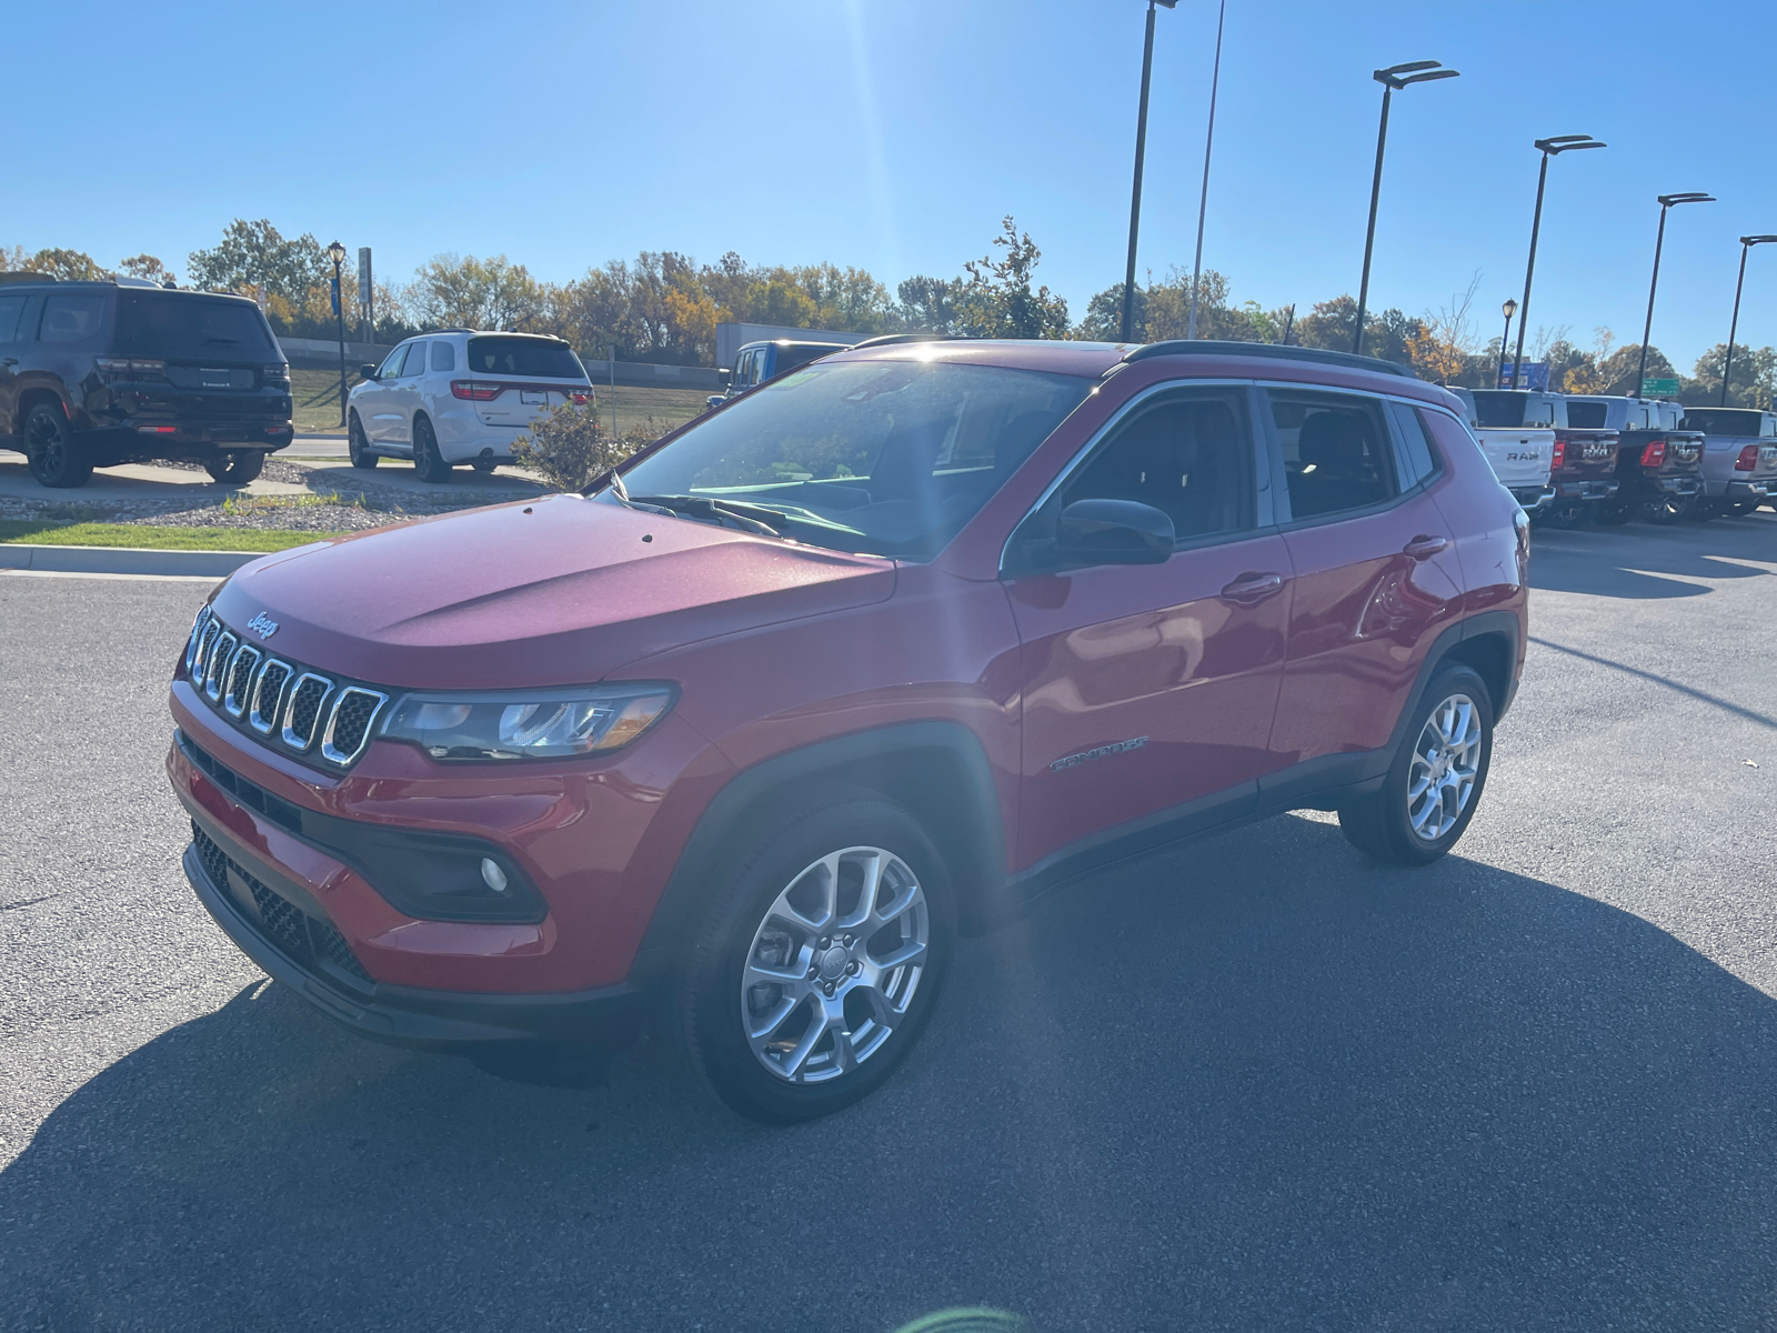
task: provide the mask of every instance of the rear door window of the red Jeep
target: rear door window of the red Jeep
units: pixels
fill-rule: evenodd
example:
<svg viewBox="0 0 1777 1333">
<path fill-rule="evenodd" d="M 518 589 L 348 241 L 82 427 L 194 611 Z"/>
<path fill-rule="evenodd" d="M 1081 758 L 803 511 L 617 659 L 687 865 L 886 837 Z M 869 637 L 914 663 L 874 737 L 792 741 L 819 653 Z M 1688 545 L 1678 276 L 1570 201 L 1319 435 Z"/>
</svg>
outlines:
<svg viewBox="0 0 1777 1333">
<path fill-rule="evenodd" d="M 1267 398 L 1295 519 L 1343 514 L 1400 494 L 1381 402 L 1295 389 L 1271 389 Z"/>
</svg>

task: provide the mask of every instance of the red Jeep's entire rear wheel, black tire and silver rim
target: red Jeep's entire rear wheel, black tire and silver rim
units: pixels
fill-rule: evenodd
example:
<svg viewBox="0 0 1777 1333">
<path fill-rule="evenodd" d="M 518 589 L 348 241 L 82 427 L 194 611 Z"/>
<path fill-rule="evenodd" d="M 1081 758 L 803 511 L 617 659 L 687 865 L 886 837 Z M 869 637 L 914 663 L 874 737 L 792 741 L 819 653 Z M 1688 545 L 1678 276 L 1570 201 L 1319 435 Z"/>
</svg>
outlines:
<svg viewBox="0 0 1777 1333">
<path fill-rule="evenodd" d="M 1452 734 L 1455 745 L 1448 743 Z M 1475 818 L 1491 761 L 1493 698 L 1486 682 L 1468 666 L 1438 668 L 1381 789 L 1340 809 L 1345 841 L 1393 866 L 1438 860 Z M 1414 796 L 1413 789 L 1427 777 L 1430 787 Z"/>
</svg>

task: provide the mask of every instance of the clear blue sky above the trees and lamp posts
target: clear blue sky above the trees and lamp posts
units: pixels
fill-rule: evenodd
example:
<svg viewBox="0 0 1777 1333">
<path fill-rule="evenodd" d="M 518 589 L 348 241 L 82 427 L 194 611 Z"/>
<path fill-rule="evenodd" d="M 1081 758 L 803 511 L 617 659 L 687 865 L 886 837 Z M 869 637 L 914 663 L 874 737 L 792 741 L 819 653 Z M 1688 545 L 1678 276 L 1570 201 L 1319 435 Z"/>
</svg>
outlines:
<svg viewBox="0 0 1777 1333">
<path fill-rule="evenodd" d="M 5 5 L 12 171 L 0 243 L 174 268 L 229 219 L 371 245 L 379 277 L 441 251 L 546 279 L 638 249 L 833 259 L 894 286 L 952 275 L 1004 213 L 1073 315 L 1123 272 L 1141 0 Z M 334 18 L 323 20 L 323 14 Z M 1160 11 L 1141 265 L 1191 263 L 1214 0 Z M 82 52 L 78 62 L 75 52 Z M 1532 332 L 1724 341 L 1736 236 L 1777 231 L 1777 5 L 1695 0 L 1230 0 L 1205 263 L 1269 306 L 1356 291 L 1375 148 L 1370 69 L 1462 76 L 1395 100 L 1372 306 L 1422 313 L 1475 272 L 1482 336 L 1523 286 L 1541 135 L 1551 167 Z M 1777 245 L 1741 339 L 1777 343 Z"/>
</svg>

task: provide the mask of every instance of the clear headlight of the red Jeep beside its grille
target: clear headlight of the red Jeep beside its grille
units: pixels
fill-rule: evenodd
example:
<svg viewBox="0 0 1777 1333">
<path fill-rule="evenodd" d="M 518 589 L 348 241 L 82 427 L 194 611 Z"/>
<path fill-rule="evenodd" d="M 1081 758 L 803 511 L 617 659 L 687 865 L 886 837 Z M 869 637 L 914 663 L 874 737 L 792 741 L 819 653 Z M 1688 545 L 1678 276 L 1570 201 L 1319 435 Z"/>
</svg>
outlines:
<svg viewBox="0 0 1777 1333">
<path fill-rule="evenodd" d="M 382 723 L 434 759 L 562 759 L 620 750 L 672 707 L 659 681 L 563 690 L 405 695 Z"/>
</svg>

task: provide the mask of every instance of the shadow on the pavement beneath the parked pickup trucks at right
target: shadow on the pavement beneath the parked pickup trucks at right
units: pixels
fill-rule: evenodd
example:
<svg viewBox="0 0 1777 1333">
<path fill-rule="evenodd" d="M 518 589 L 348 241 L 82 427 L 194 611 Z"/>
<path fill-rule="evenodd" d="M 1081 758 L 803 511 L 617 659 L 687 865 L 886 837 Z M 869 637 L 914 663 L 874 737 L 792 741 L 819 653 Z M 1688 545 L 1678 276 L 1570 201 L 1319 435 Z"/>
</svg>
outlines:
<svg viewBox="0 0 1777 1333">
<path fill-rule="evenodd" d="M 1695 579 L 1770 578 L 1740 560 L 1777 560 L 1777 514 L 1660 526 L 1550 530 L 1530 539 L 1530 585 L 1550 592 L 1653 601 L 1704 597 Z"/>
</svg>

